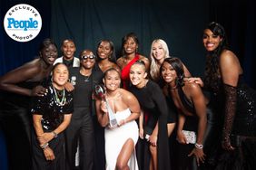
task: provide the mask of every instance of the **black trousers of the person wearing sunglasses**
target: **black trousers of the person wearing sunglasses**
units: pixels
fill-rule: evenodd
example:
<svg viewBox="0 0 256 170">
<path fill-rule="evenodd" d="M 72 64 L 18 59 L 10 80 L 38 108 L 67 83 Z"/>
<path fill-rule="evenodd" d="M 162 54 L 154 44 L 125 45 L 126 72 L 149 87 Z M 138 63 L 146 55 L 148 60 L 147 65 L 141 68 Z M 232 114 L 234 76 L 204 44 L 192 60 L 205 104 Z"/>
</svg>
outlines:
<svg viewBox="0 0 256 170">
<path fill-rule="evenodd" d="M 74 108 L 70 125 L 65 130 L 66 168 L 74 170 L 75 153 L 79 143 L 79 169 L 94 168 L 94 123 L 88 108 Z"/>
</svg>

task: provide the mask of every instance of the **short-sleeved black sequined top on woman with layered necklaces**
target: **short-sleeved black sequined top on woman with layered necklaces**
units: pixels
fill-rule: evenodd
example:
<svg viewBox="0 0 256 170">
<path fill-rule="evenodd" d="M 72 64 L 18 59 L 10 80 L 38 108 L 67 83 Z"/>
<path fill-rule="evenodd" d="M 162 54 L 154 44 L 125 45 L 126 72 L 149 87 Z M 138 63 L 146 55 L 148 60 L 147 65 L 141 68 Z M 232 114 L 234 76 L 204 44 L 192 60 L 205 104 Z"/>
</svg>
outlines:
<svg viewBox="0 0 256 170">
<path fill-rule="evenodd" d="M 43 115 L 41 120 L 44 131 L 51 131 L 58 127 L 64 120 L 64 114 L 74 111 L 73 94 L 65 91 L 65 104 L 60 106 L 54 99 L 53 86 L 49 86 L 48 93 L 44 97 L 34 97 L 32 114 Z"/>
</svg>

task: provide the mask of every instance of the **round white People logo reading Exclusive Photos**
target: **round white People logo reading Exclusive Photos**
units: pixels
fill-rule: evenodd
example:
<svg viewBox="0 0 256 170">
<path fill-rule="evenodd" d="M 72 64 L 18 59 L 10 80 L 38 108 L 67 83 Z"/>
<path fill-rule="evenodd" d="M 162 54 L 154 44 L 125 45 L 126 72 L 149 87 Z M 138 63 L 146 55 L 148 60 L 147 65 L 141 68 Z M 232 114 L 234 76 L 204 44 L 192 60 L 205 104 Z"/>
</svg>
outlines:
<svg viewBox="0 0 256 170">
<path fill-rule="evenodd" d="M 13 40 L 29 42 L 40 33 L 42 18 L 32 5 L 15 5 L 5 14 L 4 27 Z"/>
</svg>

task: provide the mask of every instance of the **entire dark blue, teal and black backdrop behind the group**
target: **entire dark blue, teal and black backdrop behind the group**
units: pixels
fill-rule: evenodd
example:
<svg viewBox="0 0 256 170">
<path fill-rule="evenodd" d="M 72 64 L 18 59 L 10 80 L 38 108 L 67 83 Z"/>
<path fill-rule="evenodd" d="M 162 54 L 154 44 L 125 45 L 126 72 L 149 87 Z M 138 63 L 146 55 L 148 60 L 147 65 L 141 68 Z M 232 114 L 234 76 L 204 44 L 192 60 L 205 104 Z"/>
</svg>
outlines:
<svg viewBox="0 0 256 170">
<path fill-rule="evenodd" d="M 17 4 L 33 5 L 42 16 L 42 31 L 31 42 L 15 42 L 3 28 L 5 13 Z M 120 56 L 122 37 L 129 32 L 138 35 L 143 55 L 149 55 L 153 39 L 162 38 L 172 56 L 201 76 L 202 30 L 216 21 L 225 27 L 245 80 L 255 89 L 255 9 L 252 0 L 0 0 L 0 76 L 34 59 L 44 38 L 53 38 L 58 46 L 66 38 L 74 39 L 76 55 L 83 49 L 95 50 L 101 39 L 110 39 Z M 0 169 L 5 169 L 2 141 L 0 130 Z"/>
</svg>

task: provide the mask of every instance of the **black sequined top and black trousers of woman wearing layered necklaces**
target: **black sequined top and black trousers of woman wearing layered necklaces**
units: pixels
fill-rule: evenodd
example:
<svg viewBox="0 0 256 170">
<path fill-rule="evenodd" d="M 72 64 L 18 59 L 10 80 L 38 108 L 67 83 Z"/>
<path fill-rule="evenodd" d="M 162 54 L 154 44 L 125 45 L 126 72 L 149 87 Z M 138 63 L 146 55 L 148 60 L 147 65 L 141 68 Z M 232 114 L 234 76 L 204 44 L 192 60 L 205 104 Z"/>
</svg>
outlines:
<svg viewBox="0 0 256 170">
<path fill-rule="evenodd" d="M 59 127 L 64 120 L 65 114 L 72 114 L 74 111 L 73 107 L 73 94 L 68 91 L 54 92 L 54 87 L 51 85 L 47 88 L 48 93 L 44 97 L 35 97 L 33 99 L 32 114 L 42 115 L 41 124 L 44 132 L 51 132 L 56 127 Z M 61 93 L 63 92 L 63 93 Z M 65 98 L 64 104 L 60 104 L 56 101 L 57 93 L 61 94 Z M 34 170 L 59 170 L 65 169 L 65 156 L 64 156 L 64 133 L 58 134 L 58 137 L 53 138 L 49 142 L 49 146 L 54 151 L 55 159 L 53 161 L 47 161 L 44 157 L 44 152 L 39 146 L 38 140 L 36 139 L 35 132 L 32 136 L 33 143 L 33 161 L 32 169 Z"/>
</svg>

